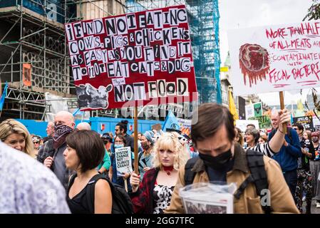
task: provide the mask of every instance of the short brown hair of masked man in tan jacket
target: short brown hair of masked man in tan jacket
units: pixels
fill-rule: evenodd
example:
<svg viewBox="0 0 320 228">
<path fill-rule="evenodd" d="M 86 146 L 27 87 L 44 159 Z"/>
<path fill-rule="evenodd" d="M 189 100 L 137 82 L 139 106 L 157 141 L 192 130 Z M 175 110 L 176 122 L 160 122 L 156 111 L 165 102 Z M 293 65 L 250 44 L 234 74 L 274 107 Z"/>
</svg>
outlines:
<svg viewBox="0 0 320 228">
<path fill-rule="evenodd" d="M 191 138 L 195 145 L 197 145 L 197 141 L 215 135 L 222 125 L 227 129 L 228 139 L 234 140 L 234 120 L 226 107 L 216 103 L 204 103 L 195 110 L 193 116 L 196 115 L 197 121 L 193 118 L 191 125 Z"/>
</svg>

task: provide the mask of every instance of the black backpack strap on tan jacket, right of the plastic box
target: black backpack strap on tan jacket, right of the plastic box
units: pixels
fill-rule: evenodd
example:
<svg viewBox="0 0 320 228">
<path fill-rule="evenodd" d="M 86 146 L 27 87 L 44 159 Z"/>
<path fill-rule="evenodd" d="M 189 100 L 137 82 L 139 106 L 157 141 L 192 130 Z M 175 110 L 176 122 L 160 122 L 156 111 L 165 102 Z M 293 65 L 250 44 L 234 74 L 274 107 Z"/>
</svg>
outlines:
<svg viewBox="0 0 320 228">
<path fill-rule="evenodd" d="M 262 190 L 267 190 L 269 187 L 267 172 L 264 169 L 263 157 L 264 155 L 261 152 L 247 150 L 247 164 L 251 172 L 250 176 L 252 176 L 257 195 L 259 195 L 260 198 L 264 197 L 264 195 L 262 195 Z M 262 206 L 262 209 L 266 214 L 272 212 L 270 206 Z"/>
</svg>

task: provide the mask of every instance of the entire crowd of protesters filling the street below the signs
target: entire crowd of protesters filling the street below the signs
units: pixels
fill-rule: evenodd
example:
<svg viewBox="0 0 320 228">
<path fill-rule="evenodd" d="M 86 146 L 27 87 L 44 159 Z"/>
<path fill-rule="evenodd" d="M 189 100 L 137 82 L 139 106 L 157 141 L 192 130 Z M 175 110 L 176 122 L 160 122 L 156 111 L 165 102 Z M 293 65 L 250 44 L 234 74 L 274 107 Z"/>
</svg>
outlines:
<svg viewBox="0 0 320 228">
<path fill-rule="evenodd" d="M 313 198 L 316 208 L 320 207 L 318 131 L 311 133 L 299 123 L 291 126 L 288 110 L 272 115 L 273 129 L 267 136 L 254 125 L 247 125 L 242 133 L 222 105 L 205 103 L 195 112 L 190 138 L 170 128 L 139 133 L 138 172 L 134 172 L 134 138 L 128 135 L 126 120 L 113 133 L 99 135 L 88 123 L 76 125 L 71 113 L 61 111 L 48 123 L 47 138 L 31 135 L 17 120 L 4 120 L 0 124 L 1 180 L 14 170 L 21 176 L 11 176 L 1 185 L 1 195 L 11 194 L 1 197 L 0 211 L 187 213 L 189 204 L 184 205 L 180 189 L 217 181 L 237 183 L 234 213 L 311 213 Z M 267 182 L 268 207 L 259 200 L 257 180 L 250 179 L 254 176 L 249 157 L 262 162 L 264 177 L 259 178 Z M 119 164 L 130 167 L 123 172 Z M 35 199 L 34 191 L 41 191 L 41 197 Z M 56 204 L 48 204 L 48 197 L 56 199 Z M 220 207 L 210 204 L 190 204 L 189 212 L 195 208 L 220 212 Z"/>
</svg>

